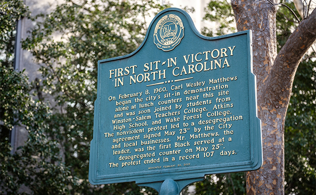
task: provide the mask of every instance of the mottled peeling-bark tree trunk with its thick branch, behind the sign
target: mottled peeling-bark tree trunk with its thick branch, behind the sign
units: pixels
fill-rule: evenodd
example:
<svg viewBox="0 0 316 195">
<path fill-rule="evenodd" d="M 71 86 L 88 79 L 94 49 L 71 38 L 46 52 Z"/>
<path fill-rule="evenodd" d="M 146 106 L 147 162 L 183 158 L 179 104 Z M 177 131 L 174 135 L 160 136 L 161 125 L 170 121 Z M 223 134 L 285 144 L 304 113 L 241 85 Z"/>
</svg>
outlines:
<svg viewBox="0 0 316 195">
<path fill-rule="evenodd" d="M 284 195 L 284 122 L 295 72 L 316 40 L 316 10 L 277 54 L 276 8 L 267 0 L 232 0 L 238 31 L 253 31 L 253 73 L 262 122 L 263 166 L 247 173 L 248 195 Z"/>
</svg>

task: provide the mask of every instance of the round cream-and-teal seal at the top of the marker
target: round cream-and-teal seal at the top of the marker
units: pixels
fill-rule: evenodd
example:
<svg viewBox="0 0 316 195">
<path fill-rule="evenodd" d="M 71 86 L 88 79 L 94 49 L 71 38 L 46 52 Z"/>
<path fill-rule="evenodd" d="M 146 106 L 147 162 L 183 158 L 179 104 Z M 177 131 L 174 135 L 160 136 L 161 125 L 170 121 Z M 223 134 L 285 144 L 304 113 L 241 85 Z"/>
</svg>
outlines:
<svg viewBox="0 0 316 195">
<path fill-rule="evenodd" d="M 174 49 L 184 36 L 184 28 L 179 16 L 175 14 L 163 16 L 155 27 L 154 44 L 164 51 Z"/>
</svg>

